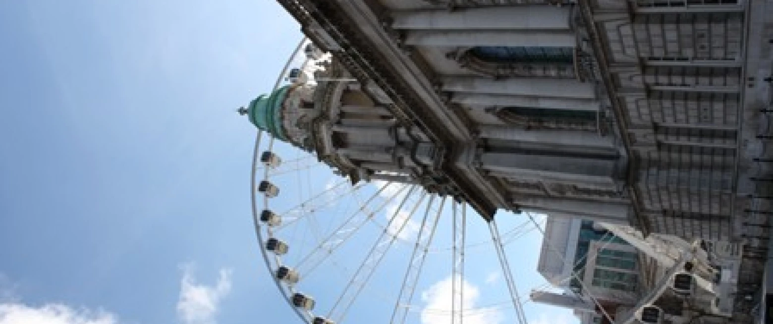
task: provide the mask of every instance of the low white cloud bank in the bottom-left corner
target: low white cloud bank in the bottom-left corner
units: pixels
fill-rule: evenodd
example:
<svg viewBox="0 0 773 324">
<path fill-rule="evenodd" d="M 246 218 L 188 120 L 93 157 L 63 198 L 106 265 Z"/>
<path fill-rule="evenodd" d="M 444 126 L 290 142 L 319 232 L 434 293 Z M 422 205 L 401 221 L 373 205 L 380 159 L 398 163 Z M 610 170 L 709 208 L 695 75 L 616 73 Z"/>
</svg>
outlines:
<svg viewBox="0 0 773 324">
<path fill-rule="evenodd" d="M 115 315 L 88 309 L 72 309 L 62 304 L 32 307 L 23 304 L 0 304 L 0 324 L 115 324 Z"/>
</svg>

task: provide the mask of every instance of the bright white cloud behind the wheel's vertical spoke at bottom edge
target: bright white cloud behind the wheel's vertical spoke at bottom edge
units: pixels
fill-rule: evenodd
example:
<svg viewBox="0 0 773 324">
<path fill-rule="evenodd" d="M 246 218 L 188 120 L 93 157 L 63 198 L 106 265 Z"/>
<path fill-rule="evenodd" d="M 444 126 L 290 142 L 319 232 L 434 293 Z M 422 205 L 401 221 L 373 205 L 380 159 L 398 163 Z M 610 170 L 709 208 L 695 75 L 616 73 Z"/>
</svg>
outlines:
<svg viewBox="0 0 773 324">
<path fill-rule="evenodd" d="M 465 324 L 498 324 L 502 322 L 502 312 L 495 308 L 480 308 L 476 304 L 480 297 L 478 287 L 470 284 L 468 281 L 461 281 L 457 283 L 458 292 L 464 285 L 464 308 L 465 308 Z M 452 289 L 451 277 L 445 278 L 436 282 L 430 288 L 421 292 L 421 299 L 427 305 L 421 310 L 421 323 L 422 324 L 448 324 L 451 322 L 451 294 L 454 292 Z M 457 301 L 455 309 L 458 311 L 461 304 Z M 471 310 L 474 309 L 474 310 Z M 456 314 L 458 318 L 458 313 Z"/>
</svg>

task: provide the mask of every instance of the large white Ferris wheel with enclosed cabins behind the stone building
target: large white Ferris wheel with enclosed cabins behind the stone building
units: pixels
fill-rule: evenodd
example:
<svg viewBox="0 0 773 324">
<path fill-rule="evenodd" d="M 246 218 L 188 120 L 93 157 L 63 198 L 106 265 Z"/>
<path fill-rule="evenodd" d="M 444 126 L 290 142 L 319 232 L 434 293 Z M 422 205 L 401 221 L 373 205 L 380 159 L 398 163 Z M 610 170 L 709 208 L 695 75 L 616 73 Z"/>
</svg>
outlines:
<svg viewBox="0 0 773 324">
<path fill-rule="evenodd" d="M 324 56 L 309 44 L 298 44 L 274 90 L 350 81 L 309 77 Z M 257 134 L 254 227 L 267 279 L 302 322 L 525 324 L 546 312 L 529 298 L 552 288 L 536 271 L 543 215 L 500 212 L 487 222 L 397 175 L 352 183 L 275 137 Z"/>
</svg>

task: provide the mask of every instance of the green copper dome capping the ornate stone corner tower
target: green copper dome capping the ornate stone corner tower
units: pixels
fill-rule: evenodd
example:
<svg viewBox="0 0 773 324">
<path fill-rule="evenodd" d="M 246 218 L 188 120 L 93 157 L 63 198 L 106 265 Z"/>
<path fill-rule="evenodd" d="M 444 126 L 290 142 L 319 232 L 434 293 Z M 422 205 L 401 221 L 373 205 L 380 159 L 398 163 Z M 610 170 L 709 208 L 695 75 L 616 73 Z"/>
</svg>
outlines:
<svg viewBox="0 0 773 324">
<path fill-rule="evenodd" d="M 268 131 L 285 142 L 288 139 L 282 127 L 282 103 L 289 89 L 290 86 L 284 86 L 268 96 L 261 95 L 254 101 L 250 101 L 250 106 L 247 107 L 247 116 L 257 128 Z"/>
</svg>

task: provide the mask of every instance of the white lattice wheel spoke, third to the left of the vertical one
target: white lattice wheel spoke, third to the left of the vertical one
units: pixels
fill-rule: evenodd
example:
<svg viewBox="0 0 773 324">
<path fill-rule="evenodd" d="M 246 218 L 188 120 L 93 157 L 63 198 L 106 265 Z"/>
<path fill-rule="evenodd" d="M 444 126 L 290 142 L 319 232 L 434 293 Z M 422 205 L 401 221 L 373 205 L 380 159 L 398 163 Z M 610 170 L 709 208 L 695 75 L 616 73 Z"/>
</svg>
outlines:
<svg viewBox="0 0 773 324">
<path fill-rule="evenodd" d="M 328 237 L 325 237 L 325 240 L 320 241 L 313 251 L 309 252 L 309 254 L 301 258 L 301 261 L 298 263 L 297 267 L 298 271 L 307 276 L 311 274 L 320 264 L 325 261 L 329 255 L 335 253 L 335 251 L 344 243 L 346 243 L 349 238 L 353 237 L 354 234 L 356 234 L 368 222 L 369 219 L 373 218 L 375 213 L 363 213 L 363 211 L 366 210 L 366 207 L 369 205 L 369 203 L 375 200 L 376 197 L 379 196 L 387 186 L 389 186 L 389 184 L 383 186 L 381 189 L 376 191 L 376 193 L 373 193 L 373 195 L 368 198 L 366 203 L 364 203 L 354 213 L 352 213 L 352 215 L 347 218 L 344 223 L 333 230 L 332 234 L 330 234 Z M 398 189 L 397 192 L 393 194 L 393 196 L 390 196 L 389 199 L 386 199 L 380 203 L 380 206 L 378 206 L 376 210 L 380 210 L 387 204 L 391 203 L 395 198 L 400 196 L 405 189 L 407 189 L 407 187 Z M 414 188 L 411 188 L 409 193 L 405 196 L 403 203 L 407 201 L 408 197 L 410 196 L 410 192 L 412 192 L 413 189 Z M 402 203 L 400 206 L 402 206 Z"/>
</svg>

